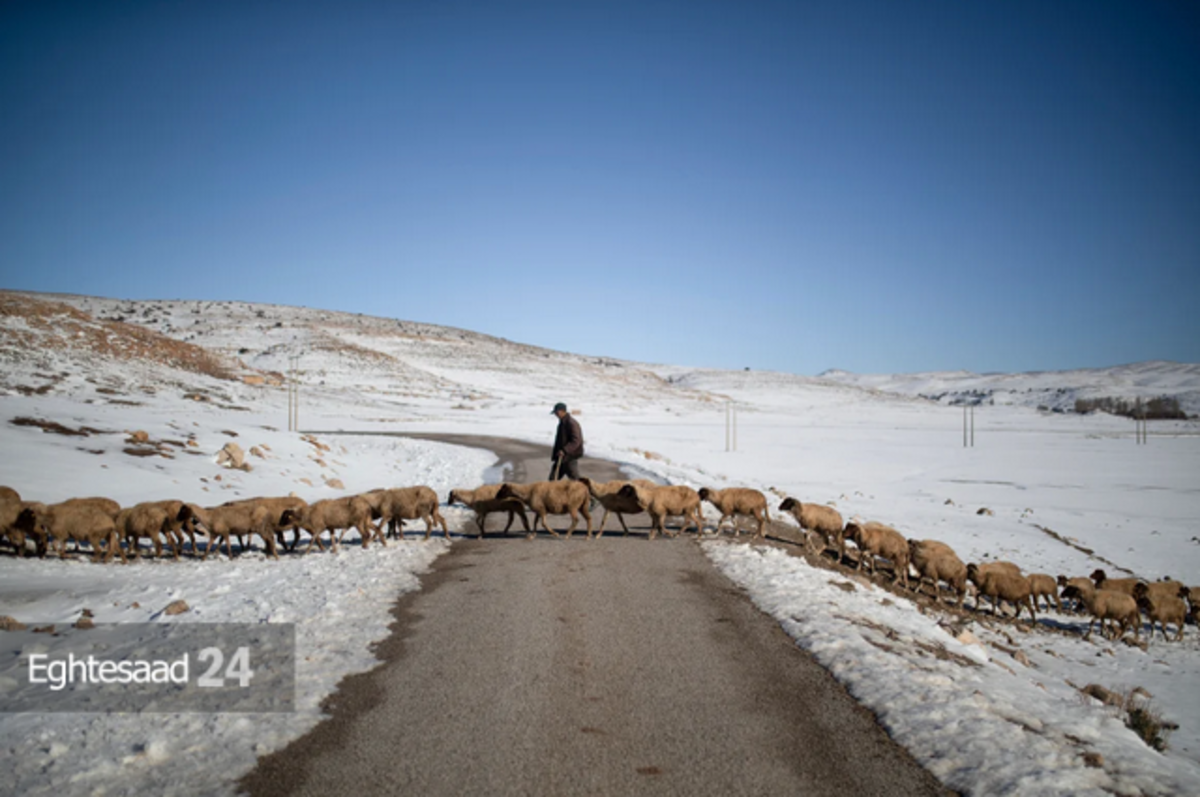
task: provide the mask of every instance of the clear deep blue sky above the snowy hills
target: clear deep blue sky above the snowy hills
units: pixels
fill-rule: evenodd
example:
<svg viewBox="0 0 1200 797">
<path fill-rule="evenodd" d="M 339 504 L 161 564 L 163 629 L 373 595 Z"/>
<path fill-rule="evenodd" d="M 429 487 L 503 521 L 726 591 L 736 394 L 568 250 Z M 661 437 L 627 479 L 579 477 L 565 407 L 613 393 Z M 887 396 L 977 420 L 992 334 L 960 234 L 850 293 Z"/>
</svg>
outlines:
<svg viewBox="0 0 1200 797">
<path fill-rule="evenodd" d="M 816 373 L 1200 361 L 1193 2 L 0 5 L 0 287 Z"/>
</svg>

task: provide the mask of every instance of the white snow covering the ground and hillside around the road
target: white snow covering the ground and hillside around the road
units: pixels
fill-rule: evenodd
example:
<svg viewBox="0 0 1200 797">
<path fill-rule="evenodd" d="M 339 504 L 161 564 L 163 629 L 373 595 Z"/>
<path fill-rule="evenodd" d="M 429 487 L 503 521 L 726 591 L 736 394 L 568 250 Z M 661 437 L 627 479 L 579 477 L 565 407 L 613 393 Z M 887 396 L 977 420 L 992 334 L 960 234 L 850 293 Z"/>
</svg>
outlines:
<svg viewBox="0 0 1200 797">
<path fill-rule="evenodd" d="M 976 445 L 964 448 L 961 409 L 916 397 L 923 389 L 888 392 L 882 382 L 860 386 L 845 378 L 646 366 L 314 310 L 64 300 L 204 346 L 223 358 L 224 376 L 233 378 L 204 367 L 82 355 L 55 331 L 70 328 L 55 316 L 59 311 L 42 307 L 43 317 L 55 319 L 43 326 L 26 319 L 25 311 L 0 312 L 0 447 L 17 454 L 0 460 L 0 484 L 28 498 L 107 495 L 122 503 L 164 497 L 220 503 L 296 491 L 313 499 L 414 483 L 444 496 L 450 486 L 481 480 L 492 457 L 334 432 L 442 431 L 548 442 L 553 419 L 547 413 L 562 400 L 577 411 L 589 454 L 672 481 L 746 485 L 830 502 L 847 517 L 881 520 L 907 537 L 949 543 L 965 561 L 1007 558 L 1051 575 L 1087 575 L 1102 567 L 1200 585 L 1195 421 L 1152 423 L 1150 444 L 1136 445 L 1133 424 L 1124 419 L 1039 413 L 1021 402 L 997 401 L 977 408 Z M 71 334 L 78 331 L 91 335 Z M 31 344 L 35 332 L 44 342 Z M 302 354 L 301 427 L 316 433 L 310 438 L 281 431 L 287 400 L 275 374 L 287 370 L 293 352 Z M 1160 395 L 1188 389 L 1195 368 L 1156 365 L 1139 390 Z M 1057 390 L 1054 374 L 1036 376 L 1040 388 Z M 727 402 L 738 409 L 736 451 L 725 450 Z M 64 437 L 8 423 L 19 417 L 100 431 Z M 126 432 L 134 430 L 151 441 L 175 441 L 178 445 L 161 447 L 173 459 L 126 454 Z M 215 463 L 230 439 L 264 455 L 247 459 L 248 473 Z M 984 507 L 992 514 L 978 515 Z M 214 767 L 227 778 L 244 772 L 254 753 L 278 747 L 316 720 L 313 707 L 337 677 L 371 666 L 368 645 L 384 633 L 391 595 L 414 587 L 412 574 L 442 545 L 355 547 L 337 557 L 284 557 L 281 563 L 222 558 L 215 567 L 0 561 L 0 615 L 72 622 L 86 606 L 98 622 L 145 619 L 176 593 L 191 603 L 194 588 L 200 599 L 193 621 L 307 623 L 301 625 L 305 651 L 324 645 L 343 657 L 317 657 L 311 671 L 301 669 L 304 711 L 295 726 L 280 718 L 260 726 L 245 717 L 8 717 L 0 719 L 0 768 L 12 769 L 23 791 L 48 791 L 55 773 L 62 780 L 53 783 L 80 778 L 74 781 L 80 787 L 162 787 L 182 783 L 173 778 L 184 775 L 158 773 L 155 750 L 178 738 L 176 732 L 209 745 L 199 739 L 209 736 L 204 729 L 215 727 L 257 739 L 257 747 L 222 745 L 245 755 Z M 774 549 L 706 543 L 706 550 L 955 789 L 1200 793 L 1200 640 L 1194 627 L 1183 643 L 1159 636 L 1144 651 L 1098 636 L 1084 642 L 1062 633 L 1081 629 L 1079 617 L 1050 613 L 1032 631 L 971 622 L 980 645 L 964 646 L 954 639 L 961 629 L 949 634 L 938 627 L 947 618 L 922 615 L 902 598 Z M 227 592 L 216 592 L 222 582 L 212 574 L 221 568 L 229 574 Z M 157 581 L 160 573 L 166 575 Z M 356 583 L 360 579 L 366 586 Z M 256 589 L 258 583 L 266 588 Z M 359 599 L 360 587 L 374 600 Z M 146 588 L 151 592 L 139 592 Z M 281 599 L 284 594 L 295 595 L 302 611 Z M 144 609 L 131 610 L 133 601 Z M 100 611 L 102 605 L 109 613 Z M 954 655 L 940 658 L 938 649 Z M 1028 666 L 1010 651 L 1020 651 Z M 1068 681 L 1145 688 L 1165 718 L 1180 725 L 1170 749 L 1165 755 L 1151 751 L 1112 718 L 1112 709 L 1082 697 Z M 50 732 L 55 736 L 43 738 Z M 1103 756 L 1102 765 L 1086 766 L 1085 753 Z M 203 790 L 211 791 L 221 777 L 197 783 L 210 784 Z"/>
</svg>

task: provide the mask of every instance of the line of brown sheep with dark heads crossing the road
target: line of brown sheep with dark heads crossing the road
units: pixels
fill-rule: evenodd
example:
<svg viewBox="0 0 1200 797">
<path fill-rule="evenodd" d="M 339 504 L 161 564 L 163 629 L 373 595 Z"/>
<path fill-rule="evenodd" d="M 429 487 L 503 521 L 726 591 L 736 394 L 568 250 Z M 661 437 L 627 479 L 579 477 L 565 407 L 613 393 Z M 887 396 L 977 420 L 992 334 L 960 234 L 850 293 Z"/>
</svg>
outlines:
<svg viewBox="0 0 1200 797">
<path fill-rule="evenodd" d="M 570 515 L 571 525 L 566 529 L 566 537 L 578 527 L 582 516 L 587 521 L 588 539 L 604 534 L 612 514 L 617 515 L 626 534 L 629 527 L 624 515 L 641 513 L 650 517 L 650 539 L 660 533 L 674 537 L 689 526 L 695 526 L 696 533 L 702 534 L 703 502 L 710 503 L 721 513 L 716 533 L 730 521 L 734 535 L 739 534 L 738 521 L 745 517 L 757 523 L 757 538 L 766 537 L 769 520 L 767 497 L 746 487 L 702 487 L 696 491 L 683 485 L 658 485 L 641 479 L 596 483 L 584 478 L 578 481 L 499 484 L 474 490 L 451 490 L 446 501 L 450 505 L 462 504 L 475 513 L 480 537 L 487 515 L 503 511 L 508 513 L 505 534 L 520 517 L 529 537 L 536 533 L 539 523 L 551 535 L 560 537 L 550 527 L 547 515 Z M 38 556 L 46 556 L 53 546 L 60 557 L 66 557 L 67 541 L 73 540 L 77 550 L 79 544 L 86 543 L 97 562 L 109 562 L 114 556 L 125 562 L 126 549 L 137 557 L 144 539 L 152 544 L 155 556 L 163 556 L 166 544 L 178 559 L 184 550 L 185 538 L 191 544 L 193 555 L 199 551 L 196 539 L 199 534 L 206 538 L 202 556 L 202 559 L 206 559 L 210 551 L 220 550 L 221 543 L 224 543 L 226 553 L 232 557 L 233 537 L 238 538 L 241 549 L 246 547 L 247 537 L 251 541 L 258 537 L 268 555 L 278 558 L 278 547 L 287 551 L 298 547 L 301 532 L 308 535 L 306 553 L 313 545 L 325 550 L 322 541 L 325 533 L 329 533 L 330 547 L 336 550 L 349 529 L 359 533 L 362 547 L 368 547 L 372 540 L 386 545 L 388 537 L 402 538 L 406 520 L 422 520 L 426 539 L 437 526 L 449 537 L 438 505 L 437 493 L 426 486 L 372 490 L 312 504 L 287 496 L 246 498 L 206 508 L 181 501 L 154 501 L 121 508 L 108 498 L 72 498 L 59 504 L 42 504 L 22 501 L 17 491 L 0 487 L 0 543 L 6 541 L 18 556 L 28 553 L 28 543 L 31 541 Z M 595 532 L 590 514 L 594 505 L 605 510 Z M 532 527 L 526 516 L 527 509 L 534 513 Z M 877 522 L 846 523 L 833 507 L 787 498 L 779 509 L 791 514 L 809 535 L 806 539 L 810 552 L 820 552 L 818 547 L 833 547 L 841 562 L 846 556 L 846 540 L 850 540 L 858 549 L 858 570 L 865 564 L 874 574 L 877 562 L 887 561 L 893 570 L 893 583 L 908 588 L 911 569 L 917 574 L 918 591 L 928 581 L 932 585 L 935 595 L 941 599 L 941 585 L 946 585 L 956 595 L 959 609 L 962 607 L 970 587 L 976 592 L 977 609 L 980 598 L 986 597 L 991 600 L 994 615 L 1000 613 L 1001 604 L 1007 603 L 1015 609 L 1015 617 L 1020 617 L 1022 606 L 1028 607 L 1034 622 L 1039 599 L 1044 598 L 1046 606 L 1054 601 L 1060 611 L 1063 600 L 1074 601 L 1076 609 L 1091 616 L 1085 639 L 1091 635 L 1097 619 L 1100 621 L 1100 633 L 1106 636 L 1118 639 L 1133 629 L 1134 637 L 1138 639 L 1145 613 L 1151 623 L 1152 636 L 1156 624 L 1159 624 L 1164 639 L 1168 639 L 1166 627 L 1174 624 L 1177 629 L 1175 639 L 1180 640 L 1187 619 L 1200 618 L 1200 599 L 1195 598 L 1200 597 L 1200 587 L 1188 588 L 1177 581 L 1109 579 L 1103 570 L 1097 570 L 1087 579 L 1055 579 L 1037 573 L 1025 575 L 1012 562 L 964 564 L 944 543 L 906 540 L 894 528 Z M 671 517 L 682 519 L 682 526 L 676 532 L 667 531 L 666 521 Z M 289 531 L 290 541 L 287 539 Z"/>
</svg>

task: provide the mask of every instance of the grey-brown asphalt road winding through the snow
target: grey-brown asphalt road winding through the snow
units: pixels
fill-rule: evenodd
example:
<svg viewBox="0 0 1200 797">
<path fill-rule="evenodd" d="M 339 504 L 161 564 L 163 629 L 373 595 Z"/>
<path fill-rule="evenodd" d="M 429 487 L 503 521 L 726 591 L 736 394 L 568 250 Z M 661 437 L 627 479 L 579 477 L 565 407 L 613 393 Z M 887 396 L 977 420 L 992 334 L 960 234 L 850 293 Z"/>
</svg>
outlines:
<svg viewBox="0 0 1200 797">
<path fill-rule="evenodd" d="M 544 447 L 442 439 L 494 450 L 509 479 L 548 469 Z M 620 478 L 594 460 L 581 472 Z M 691 539 L 463 540 L 395 615 L 384 664 L 242 787 L 946 793 Z"/>
</svg>

